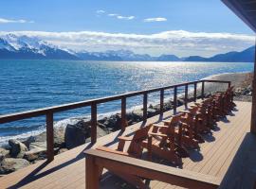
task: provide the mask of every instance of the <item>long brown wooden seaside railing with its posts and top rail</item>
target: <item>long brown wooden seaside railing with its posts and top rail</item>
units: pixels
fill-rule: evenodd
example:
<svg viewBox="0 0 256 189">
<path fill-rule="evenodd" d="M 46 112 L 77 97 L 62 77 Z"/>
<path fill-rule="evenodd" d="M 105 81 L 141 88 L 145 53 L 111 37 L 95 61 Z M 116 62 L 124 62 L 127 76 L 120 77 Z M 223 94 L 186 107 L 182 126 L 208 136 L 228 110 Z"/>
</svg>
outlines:
<svg viewBox="0 0 256 189">
<path fill-rule="evenodd" d="M 206 82 L 216 82 L 216 83 L 227 83 L 230 87 L 230 81 L 224 80 L 196 80 L 192 82 L 180 83 L 166 87 L 160 87 L 155 89 L 150 89 L 146 91 L 131 92 L 127 94 L 112 95 L 97 99 L 85 100 L 70 104 L 64 104 L 60 106 L 47 107 L 44 109 L 38 109 L 27 112 L 17 112 L 6 115 L 0 115 L 0 124 L 9 123 L 13 121 L 18 121 L 22 119 L 37 117 L 46 115 L 46 145 L 47 145 L 47 160 L 52 161 L 54 159 L 54 139 L 53 139 L 53 120 L 54 113 L 64 112 L 69 110 L 74 110 L 82 107 L 91 107 L 91 143 L 94 144 L 97 141 L 97 106 L 101 103 L 110 102 L 114 100 L 121 100 L 121 129 L 124 130 L 127 126 L 126 121 L 126 99 L 128 97 L 143 95 L 143 121 L 147 120 L 147 107 L 148 107 L 148 94 L 160 92 L 160 114 L 164 112 L 164 91 L 169 89 L 174 89 L 174 112 L 177 108 L 177 89 L 179 87 L 185 87 L 184 104 L 187 106 L 188 103 L 188 89 L 190 85 L 193 85 L 193 99 L 196 101 L 197 98 L 197 84 L 202 83 L 201 87 L 201 97 L 205 94 L 205 83 Z"/>
</svg>

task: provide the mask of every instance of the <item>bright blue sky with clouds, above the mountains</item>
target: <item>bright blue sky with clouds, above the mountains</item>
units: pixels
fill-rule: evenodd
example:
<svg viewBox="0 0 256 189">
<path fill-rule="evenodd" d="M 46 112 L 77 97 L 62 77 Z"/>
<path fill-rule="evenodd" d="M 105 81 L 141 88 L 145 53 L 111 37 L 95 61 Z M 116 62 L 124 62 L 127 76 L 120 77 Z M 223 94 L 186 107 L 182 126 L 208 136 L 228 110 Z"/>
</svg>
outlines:
<svg viewBox="0 0 256 189">
<path fill-rule="evenodd" d="M 180 30 L 181 34 L 177 32 Z M 102 51 L 122 48 L 153 55 L 174 52 L 179 56 L 184 56 L 186 53 L 210 56 L 218 52 L 242 50 L 254 42 L 252 31 L 219 0 L 2 1 L 0 31 L 34 31 L 24 34 L 76 50 Z M 46 33 L 38 33 L 38 31 Z M 65 35 L 61 35 L 61 32 L 65 32 L 63 33 Z M 68 32 L 72 32 L 72 35 L 69 34 L 73 39 L 76 36 L 75 41 L 70 41 Z M 93 33 L 81 35 L 81 32 Z M 166 32 L 169 32 L 168 36 Z M 200 33 L 203 33 L 203 40 L 207 38 L 208 43 L 214 39 L 208 50 L 204 50 L 205 43 L 199 49 L 202 38 L 197 34 Z M 123 37 L 118 34 L 126 34 L 125 42 L 115 44 L 115 39 L 119 40 Z M 165 38 L 172 43 L 176 39 L 175 35 L 182 39 L 184 34 L 187 38 L 192 36 L 192 40 L 186 41 L 187 46 L 183 42 L 181 46 L 176 47 L 176 42 L 174 45 L 170 44 L 168 51 L 166 45 L 160 46 Z M 109 38 L 109 35 L 112 36 Z M 216 35 L 218 42 L 215 42 Z M 229 40 L 222 42 L 227 36 Z M 129 39 L 134 37 L 136 39 L 130 42 Z M 154 40 L 161 38 L 162 41 L 149 45 L 148 38 L 152 37 Z M 81 43 L 78 38 L 82 38 Z M 139 40 L 143 43 L 145 39 L 146 45 L 136 46 Z M 197 42 L 194 42 L 195 40 Z M 94 43 L 89 45 L 88 42 L 91 41 Z M 99 43 L 95 43 L 96 41 Z M 196 43 L 199 43 L 198 49 L 193 49 Z M 132 46 L 129 47 L 128 44 Z M 182 50 L 184 46 L 185 50 Z"/>
</svg>

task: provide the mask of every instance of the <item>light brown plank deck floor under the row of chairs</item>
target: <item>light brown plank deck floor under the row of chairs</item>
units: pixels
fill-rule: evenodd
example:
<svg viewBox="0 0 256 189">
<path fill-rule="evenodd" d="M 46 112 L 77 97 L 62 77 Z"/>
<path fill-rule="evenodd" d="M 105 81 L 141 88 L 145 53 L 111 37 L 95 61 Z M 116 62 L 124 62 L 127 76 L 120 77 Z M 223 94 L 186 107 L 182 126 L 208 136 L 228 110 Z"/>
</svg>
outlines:
<svg viewBox="0 0 256 189">
<path fill-rule="evenodd" d="M 183 169 L 214 176 L 223 180 L 222 188 L 249 188 L 256 178 L 256 137 L 250 133 L 251 103 L 236 102 L 237 110 L 218 122 L 212 135 L 206 136 L 206 143 L 199 151 L 192 151 L 190 158 L 183 159 Z M 166 112 L 163 117 L 168 117 Z M 149 118 L 147 123 L 157 122 L 159 116 Z M 120 134 L 131 133 L 141 127 L 141 123 L 127 128 L 124 133 L 113 132 L 101 137 L 95 146 L 115 144 Z M 76 147 L 55 157 L 51 163 L 40 162 L 0 178 L 0 188 L 85 188 L 85 157 L 83 150 L 89 144 Z M 93 146 L 94 147 L 94 146 Z M 248 156 L 247 154 L 250 154 Z M 249 158 L 248 158 L 249 157 Z M 243 161 L 242 161 L 243 160 Z M 239 170 L 239 171 L 237 171 Z M 132 188 L 116 176 L 105 174 L 101 188 Z M 232 180 L 229 182 L 229 180 Z M 227 183 L 232 183 L 228 184 Z M 151 188 L 180 188 L 164 182 L 152 180 Z M 240 187 L 241 186 L 241 187 Z"/>
</svg>

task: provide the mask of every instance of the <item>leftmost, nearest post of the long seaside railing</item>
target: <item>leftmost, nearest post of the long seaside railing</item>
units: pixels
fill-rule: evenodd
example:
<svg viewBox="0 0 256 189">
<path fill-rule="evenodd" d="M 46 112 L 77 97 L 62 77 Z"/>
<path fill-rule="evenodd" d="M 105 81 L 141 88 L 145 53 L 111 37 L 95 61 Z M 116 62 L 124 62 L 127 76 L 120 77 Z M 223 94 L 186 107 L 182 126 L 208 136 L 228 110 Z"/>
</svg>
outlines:
<svg viewBox="0 0 256 189">
<path fill-rule="evenodd" d="M 53 138 L 53 112 L 46 114 L 46 145 L 47 145 L 47 161 L 54 160 L 54 138 Z"/>
</svg>

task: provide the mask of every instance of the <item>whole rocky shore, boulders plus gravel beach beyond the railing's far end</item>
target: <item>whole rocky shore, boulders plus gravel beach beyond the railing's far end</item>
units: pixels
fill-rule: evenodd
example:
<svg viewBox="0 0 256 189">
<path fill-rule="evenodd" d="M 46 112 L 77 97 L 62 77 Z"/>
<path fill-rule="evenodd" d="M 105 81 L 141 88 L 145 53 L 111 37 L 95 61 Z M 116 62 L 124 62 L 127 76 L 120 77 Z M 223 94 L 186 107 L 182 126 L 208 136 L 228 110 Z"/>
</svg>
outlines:
<svg viewBox="0 0 256 189">
<path fill-rule="evenodd" d="M 251 101 L 252 94 L 252 74 L 234 73 L 221 74 L 208 79 L 229 80 L 235 87 L 234 100 Z M 217 91 L 225 91 L 227 85 L 207 83 L 205 85 L 205 95 Z M 197 94 L 201 94 L 200 86 Z M 197 95 L 199 98 L 200 96 Z M 177 106 L 184 105 L 184 95 L 177 98 Z M 189 101 L 193 100 L 192 93 L 189 94 Z M 164 111 L 173 109 L 173 99 L 164 103 Z M 159 113 L 160 105 L 150 105 L 148 107 L 148 117 Z M 142 121 L 143 111 L 137 109 L 126 114 L 128 126 Z M 68 149 L 81 146 L 90 141 L 90 121 L 87 118 L 72 118 L 74 124 L 66 124 L 63 127 L 54 129 L 54 152 L 55 155 L 63 153 Z M 97 137 L 101 137 L 110 132 L 120 129 L 120 113 L 105 116 L 98 120 Z M 0 175 L 9 174 L 31 163 L 37 163 L 46 159 L 46 131 L 39 135 L 29 136 L 26 139 L 10 139 L 9 145 L 0 146 Z"/>
</svg>

